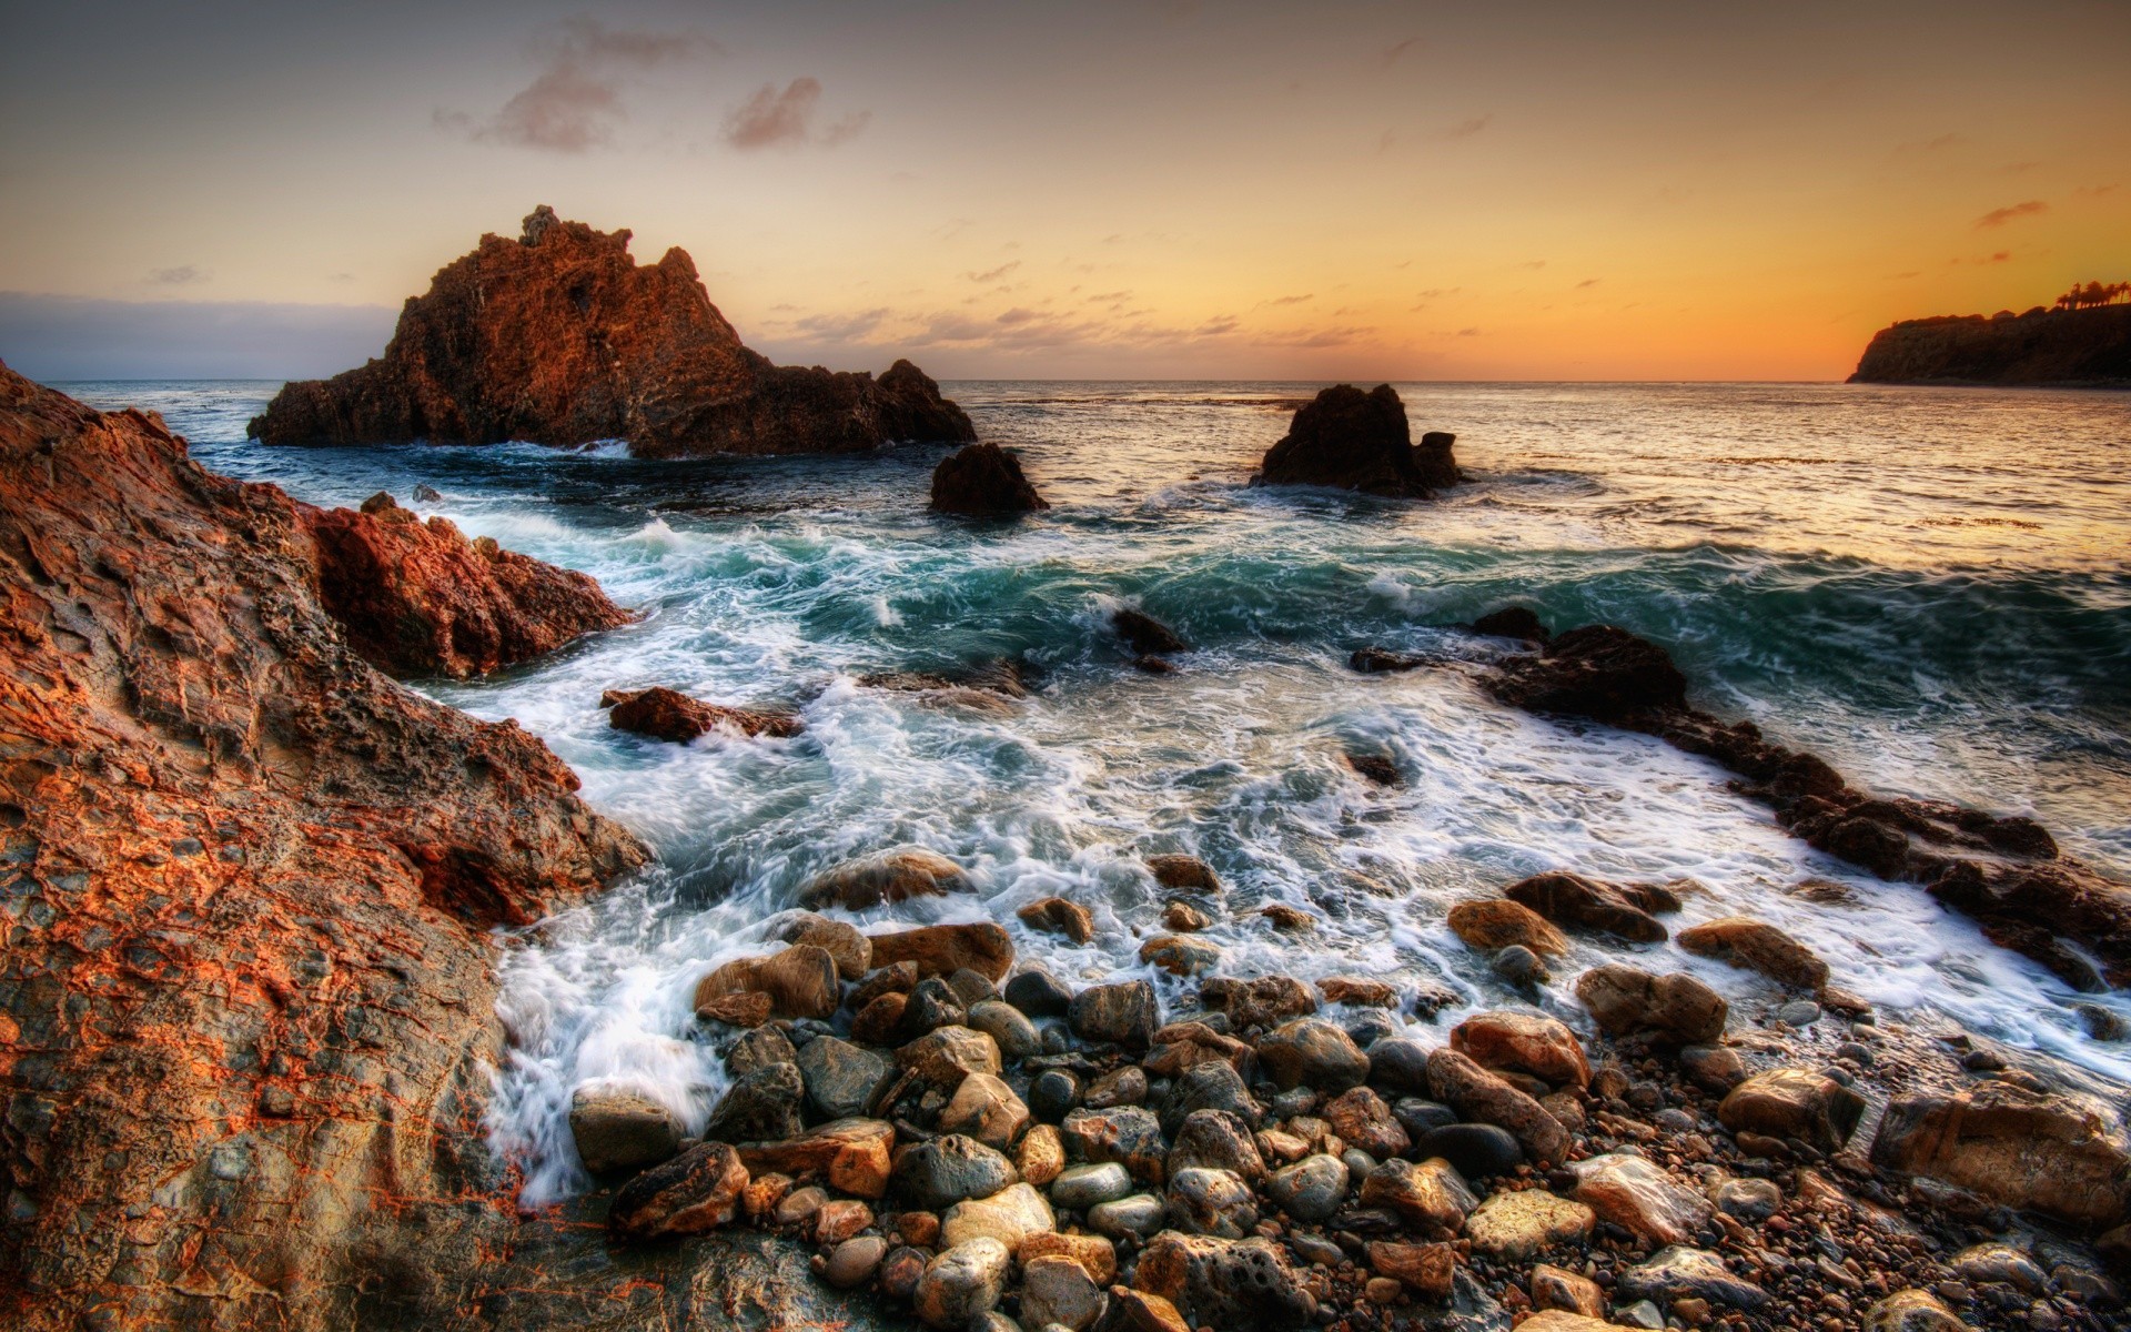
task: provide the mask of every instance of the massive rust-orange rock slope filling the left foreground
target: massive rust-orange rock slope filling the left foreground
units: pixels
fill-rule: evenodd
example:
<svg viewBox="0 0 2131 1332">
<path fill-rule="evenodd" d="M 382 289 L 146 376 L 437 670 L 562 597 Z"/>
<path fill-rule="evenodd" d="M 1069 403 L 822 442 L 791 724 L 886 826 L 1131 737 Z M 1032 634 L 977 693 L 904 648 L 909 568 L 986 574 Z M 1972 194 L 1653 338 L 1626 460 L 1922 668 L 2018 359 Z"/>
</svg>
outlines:
<svg viewBox="0 0 2131 1332">
<path fill-rule="evenodd" d="M 352 652 L 315 550 L 0 369 L 0 1321 L 441 1321 L 469 1236 L 514 1242 L 484 931 L 646 852 Z"/>
</svg>

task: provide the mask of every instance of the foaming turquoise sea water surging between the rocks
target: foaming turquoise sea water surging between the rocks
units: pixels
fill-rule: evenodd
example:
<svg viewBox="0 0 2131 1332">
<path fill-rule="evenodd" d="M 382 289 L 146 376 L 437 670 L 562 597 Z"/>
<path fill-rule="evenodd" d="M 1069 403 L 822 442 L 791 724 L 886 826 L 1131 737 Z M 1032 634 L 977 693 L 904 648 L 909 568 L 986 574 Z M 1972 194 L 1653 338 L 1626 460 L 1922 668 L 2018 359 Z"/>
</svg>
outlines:
<svg viewBox="0 0 2131 1332">
<path fill-rule="evenodd" d="M 1055 505 L 1019 524 L 929 518 L 938 448 L 874 458 L 635 462 L 618 445 L 262 450 L 273 384 L 70 386 L 162 411 L 219 471 L 320 503 L 418 482 L 469 533 L 584 569 L 641 624 L 503 678 L 424 684 L 516 716 L 661 865 L 503 953 L 499 1142 L 528 1200 L 580 1183 L 571 1087 L 639 1083 L 701 1117 L 722 1081 L 688 991 L 759 948 L 814 872 L 897 842 L 974 870 L 980 893 L 859 916 L 991 919 L 1025 955 L 1138 974 L 1161 895 L 1151 850 L 1230 884 L 1206 938 L 1234 972 L 1436 980 L 1507 1000 L 1443 927 L 1517 876 L 1692 876 L 1679 925 L 1745 912 L 1811 942 L 1835 982 L 2131 1078 L 2073 995 L 1909 884 L 1784 835 L 1722 774 L 1647 737 L 1564 729 L 1487 701 L 1458 669 L 1362 678 L 1362 644 L 1460 644 L 1507 601 L 1553 627 L 1611 620 L 1675 652 L 1696 699 L 1752 716 L 1877 791 L 2029 812 L 2131 876 L 2131 396 L 1865 386 L 1400 386 L 1415 431 L 1458 433 L 1475 482 L 1438 503 L 1245 486 L 1294 384 L 955 384 L 980 435 L 1023 452 Z M 1104 620 L 1138 605 L 1193 652 L 1132 671 Z M 987 656 L 1040 667 L 1036 697 L 944 708 L 861 688 Z M 661 746 L 605 727 L 607 686 L 786 703 L 791 742 Z M 1374 748 L 1406 784 L 1343 765 Z M 1850 901 L 1784 889 L 1833 878 Z M 1087 948 L 1012 908 L 1072 895 Z M 1266 901 L 1313 912 L 1276 936 Z M 1620 955 L 1579 944 L 1558 974 Z M 1705 976 L 1747 1017 L 1758 980 L 1666 944 L 1641 965 Z M 1176 982 L 1161 978 L 1172 993 Z M 1575 1012 L 1564 980 L 1551 1004 Z M 2131 1006 L 2105 1000 L 2125 1017 Z M 1455 1021 L 1455 1012 L 1438 1021 Z"/>
</svg>

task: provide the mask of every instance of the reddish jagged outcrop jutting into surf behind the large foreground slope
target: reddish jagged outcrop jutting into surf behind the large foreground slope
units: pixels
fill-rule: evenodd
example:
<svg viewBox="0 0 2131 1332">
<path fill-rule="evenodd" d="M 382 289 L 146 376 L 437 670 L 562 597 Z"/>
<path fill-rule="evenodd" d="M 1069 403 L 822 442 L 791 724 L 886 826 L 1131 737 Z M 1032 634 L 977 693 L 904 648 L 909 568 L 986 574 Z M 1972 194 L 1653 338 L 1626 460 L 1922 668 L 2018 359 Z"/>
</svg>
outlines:
<svg viewBox="0 0 2131 1332">
<path fill-rule="evenodd" d="M 392 676 L 486 676 L 633 618 L 584 573 L 494 537 L 467 541 L 450 518 L 422 522 L 390 494 L 360 511 L 296 505 L 296 516 L 315 546 L 326 614 Z"/>
</svg>

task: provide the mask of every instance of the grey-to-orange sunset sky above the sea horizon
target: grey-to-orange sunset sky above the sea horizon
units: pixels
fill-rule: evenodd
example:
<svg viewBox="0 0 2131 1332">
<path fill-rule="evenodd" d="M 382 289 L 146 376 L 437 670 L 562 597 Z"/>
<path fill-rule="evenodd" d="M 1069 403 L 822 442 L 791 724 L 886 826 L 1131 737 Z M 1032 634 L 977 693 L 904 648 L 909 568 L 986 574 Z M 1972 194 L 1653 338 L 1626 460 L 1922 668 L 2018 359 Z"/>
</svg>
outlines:
<svg viewBox="0 0 2131 1332">
<path fill-rule="evenodd" d="M 315 375 L 537 202 L 780 360 L 1837 379 L 2131 277 L 2131 4 L 6 4 L 0 360 Z"/>
</svg>

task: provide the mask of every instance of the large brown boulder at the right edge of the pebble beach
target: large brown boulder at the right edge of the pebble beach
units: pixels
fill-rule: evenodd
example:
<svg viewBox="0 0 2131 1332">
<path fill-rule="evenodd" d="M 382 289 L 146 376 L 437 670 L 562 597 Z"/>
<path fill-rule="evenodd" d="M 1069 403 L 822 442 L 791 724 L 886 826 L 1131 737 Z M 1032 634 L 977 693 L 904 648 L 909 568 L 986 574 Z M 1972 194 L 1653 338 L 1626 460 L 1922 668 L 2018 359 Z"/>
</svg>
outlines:
<svg viewBox="0 0 2131 1332">
<path fill-rule="evenodd" d="M 1999 1081 L 1894 1098 L 1871 1159 L 2095 1228 L 2122 1221 L 2131 1172 L 2131 1155 L 2099 1115 Z"/>
</svg>

